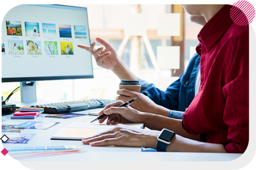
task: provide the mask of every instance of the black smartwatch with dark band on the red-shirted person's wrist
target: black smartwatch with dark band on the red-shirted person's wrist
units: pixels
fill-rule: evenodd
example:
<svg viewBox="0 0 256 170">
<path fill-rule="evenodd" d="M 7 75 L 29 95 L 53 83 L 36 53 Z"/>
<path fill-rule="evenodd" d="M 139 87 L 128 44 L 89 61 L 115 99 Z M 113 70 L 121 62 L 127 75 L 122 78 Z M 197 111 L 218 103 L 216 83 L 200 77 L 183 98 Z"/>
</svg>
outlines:
<svg viewBox="0 0 256 170">
<path fill-rule="evenodd" d="M 157 152 L 166 152 L 166 147 L 171 144 L 175 137 L 175 132 L 168 129 L 163 129 L 157 136 Z"/>
</svg>

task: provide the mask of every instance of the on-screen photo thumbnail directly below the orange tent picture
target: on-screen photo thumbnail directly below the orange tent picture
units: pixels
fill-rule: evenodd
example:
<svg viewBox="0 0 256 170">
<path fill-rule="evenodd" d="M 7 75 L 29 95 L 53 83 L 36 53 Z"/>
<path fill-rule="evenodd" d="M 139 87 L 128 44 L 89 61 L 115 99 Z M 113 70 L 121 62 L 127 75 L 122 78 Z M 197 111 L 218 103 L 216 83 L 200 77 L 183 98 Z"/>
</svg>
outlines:
<svg viewBox="0 0 256 170">
<path fill-rule="evenodd" d="M 10 55 L 24 54 L 23 40 L 8 40 L 8 50 Z"/>
</svg>

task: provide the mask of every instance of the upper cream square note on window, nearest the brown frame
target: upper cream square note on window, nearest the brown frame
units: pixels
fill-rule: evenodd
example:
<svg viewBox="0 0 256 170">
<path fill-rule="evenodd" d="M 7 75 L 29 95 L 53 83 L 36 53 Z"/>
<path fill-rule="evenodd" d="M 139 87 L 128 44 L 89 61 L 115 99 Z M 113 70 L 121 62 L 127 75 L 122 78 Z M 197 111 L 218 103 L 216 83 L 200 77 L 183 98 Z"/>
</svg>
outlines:
<svg viewBox="0 0 256 170">
<path fill-rule="evenodd" d="M 158 14 L 158 36 L 180 36 L 180 13 Z"/>
</svg>

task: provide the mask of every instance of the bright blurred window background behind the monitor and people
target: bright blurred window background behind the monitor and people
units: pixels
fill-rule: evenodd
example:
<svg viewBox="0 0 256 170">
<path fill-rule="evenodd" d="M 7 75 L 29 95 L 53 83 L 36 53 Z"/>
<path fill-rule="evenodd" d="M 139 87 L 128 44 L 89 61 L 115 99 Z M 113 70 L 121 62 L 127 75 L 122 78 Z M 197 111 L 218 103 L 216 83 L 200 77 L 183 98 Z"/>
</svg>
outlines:
<svg viewBox="0 0 256 170">
<path fill-rule="evenodd" d="M 141 36 L 126 36 L 128 38 L 127 44 L 120 48 L 122 50 L 119 57 L 135 75 L 154 83 L 157 88 L 163 91 L 186 70 L 189 59 L 195 54 L 195 47 L 199 43 L 197 35 L 202 26 L 192 23 L 190 15 L 184 11 L 180 4 L 63 5 L 87 7 L 91 42 L 95 41 L 96 37 L 101 37 L 111 43 L 116 50 L 119 49 L 125 39 L 125 16 L 134 13 L 145 14 L 146 36 L 149 43 Z M 180 13 L 180 36 L 157 35 L 158 16 L 167 13 Z M 175 22 L 170 24 L 177 25 Z M 99 43 L 96 45 L 101 47 Z M 161 68 L 161 65 L 156 63 L 158 46 L 180 47 L 179 69 Z M 147 47 L 150 47 L 151 50 L 148 50 Z M 119 78 L 112 71 L 96 65 L 94 57 L 92 60 L 94 79 L 37 81 L 37 99 L 51 102 L 116 99 Z M 1 96 L 6 99 L 18 86 L 20 86 L 20 82 L 1 83 Z M 20 100 L 20 91 L 12 95 L 10 101 L 12 100 Z"/>
</svg>

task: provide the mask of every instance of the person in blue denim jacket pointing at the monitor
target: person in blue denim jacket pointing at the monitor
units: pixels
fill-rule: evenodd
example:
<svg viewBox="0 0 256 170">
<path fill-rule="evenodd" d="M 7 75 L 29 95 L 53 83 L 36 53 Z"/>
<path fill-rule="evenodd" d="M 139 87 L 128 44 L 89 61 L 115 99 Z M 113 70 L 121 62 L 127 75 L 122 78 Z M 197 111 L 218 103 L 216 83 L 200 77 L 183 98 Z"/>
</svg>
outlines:
<svg viewBox="0 0 256 170">
<path fill-rule="evenodd" d="M 193 16 L 190 19 L 201 25 L 206 23 L 204 17 Z M 119 79 L 139 80 L 143 85 L 142 93 L 128 91 L 126 89 L 118 90 L 117 94 L 119 96 L 116 97 L 116 100 L 126 102 L 129 99 L 137 97 L 137 101 L 131 107 L 138 111 L 182 119 L 183 111 L 188 108 L 195 97 L 195 82 L 200 66 L 200 57 L 198 54 L 192 57 L 186 72 L 177 81 L 172 83 L 166 91 L 160 91 L 153 84 L 135 76 L 122 59 L 118 57 L 113 45 L 102 38 L 96 38 L 96 41 L 104 45 L 105 49 L 103 47 L 94 49 L 96 42 L 93 42 L 90 46 L 81 44 L 78 46 L 89 51 L 95 57 L 97 65 L 112 70 Z M 198 80 L 200 82 L 200 79 Z M 110 120 L 108 121 L 107 123 L 112 123 Z"/>
</svg>

